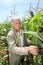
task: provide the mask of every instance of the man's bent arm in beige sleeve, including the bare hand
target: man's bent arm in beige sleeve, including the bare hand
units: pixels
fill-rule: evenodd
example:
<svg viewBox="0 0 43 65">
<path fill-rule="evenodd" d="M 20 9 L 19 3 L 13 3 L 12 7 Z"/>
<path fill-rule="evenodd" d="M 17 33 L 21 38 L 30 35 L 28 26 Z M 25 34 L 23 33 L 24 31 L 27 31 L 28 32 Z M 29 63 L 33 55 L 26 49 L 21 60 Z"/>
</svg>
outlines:
<svg viewBox="0 0 43 65">
<path fill-rule="evenodd" d="M 38 55 L 38 47 L 37 46 L 29 46 L 29 47 L 17 47 L 15 40 L 13 39 L 12 34 L 7 35 L 7 41 L 9 44 L 9 52 L 17 55 L 28 55 L 28 52 L 33 55 Z"/>
</svg>

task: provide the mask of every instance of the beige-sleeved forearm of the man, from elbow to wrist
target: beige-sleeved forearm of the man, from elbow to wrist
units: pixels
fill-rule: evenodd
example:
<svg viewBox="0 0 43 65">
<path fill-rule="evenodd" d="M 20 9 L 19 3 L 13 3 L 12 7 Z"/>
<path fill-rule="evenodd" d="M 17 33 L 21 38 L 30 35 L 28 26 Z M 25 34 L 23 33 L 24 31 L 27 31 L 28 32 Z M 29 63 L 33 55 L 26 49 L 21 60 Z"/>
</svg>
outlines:
<svg viewBox="0 0 43 65">
<path fill-rule="evenodd" d="M 10 52 L 17 55 L 28 55 L 27 47 L 12 47 Z"/>
</svg>

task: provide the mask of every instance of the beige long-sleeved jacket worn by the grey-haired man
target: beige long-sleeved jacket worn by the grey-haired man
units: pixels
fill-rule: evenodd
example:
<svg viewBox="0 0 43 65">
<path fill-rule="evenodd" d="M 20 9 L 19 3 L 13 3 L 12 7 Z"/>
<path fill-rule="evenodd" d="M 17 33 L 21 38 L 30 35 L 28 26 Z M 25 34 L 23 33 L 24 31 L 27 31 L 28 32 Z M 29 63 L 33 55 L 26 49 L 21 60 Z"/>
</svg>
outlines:
<svg viewBox="0 0 43 65">
<path fill-rule="evenodd" d="M 24 43 L 21 45 L 22 43 L 20 44 L 20 40 L 18 41 L 18 44 L 20 44 L 21 47 L 16 46 L 15 40 L 17 38 L 17 35 L 18 34 L 15 30 L 11 30 L 7 35 L 10 65 L 15 65 L 16 60 L 19 59 L 19 55 L 28 55 L 26 47 L 23 47 Z M 23 38 L 23 36 L 20 36 L 20 39 L 22 39 L 21 37 Z"/>
</svg>

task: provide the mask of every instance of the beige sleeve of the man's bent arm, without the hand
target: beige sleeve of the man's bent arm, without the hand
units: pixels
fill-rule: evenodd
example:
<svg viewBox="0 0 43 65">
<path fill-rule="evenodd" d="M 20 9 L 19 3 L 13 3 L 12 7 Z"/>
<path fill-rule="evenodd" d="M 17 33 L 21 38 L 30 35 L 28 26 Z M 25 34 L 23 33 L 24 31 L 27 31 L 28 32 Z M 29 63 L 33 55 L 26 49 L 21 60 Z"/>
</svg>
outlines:
<svg viewBox="0 0 43 65">
<path fill-rule="evenodd" d="M 9 52 L 17 55 L 28 55 L 27 47 L 17 47 L 12 35 L 7 35 Z"/>
</svg>

